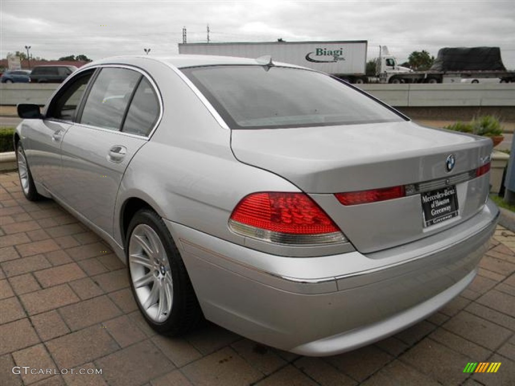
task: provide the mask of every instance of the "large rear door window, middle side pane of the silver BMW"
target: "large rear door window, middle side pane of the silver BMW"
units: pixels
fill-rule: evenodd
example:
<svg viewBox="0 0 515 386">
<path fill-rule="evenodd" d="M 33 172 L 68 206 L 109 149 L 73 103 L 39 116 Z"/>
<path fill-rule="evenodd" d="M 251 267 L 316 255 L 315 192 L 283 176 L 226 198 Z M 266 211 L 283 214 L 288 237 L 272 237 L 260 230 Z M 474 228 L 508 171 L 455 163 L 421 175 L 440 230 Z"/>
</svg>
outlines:
<svg viewBox="0 0 515 386">
<path fill-rule="evenodd" d="M 141 74 L 125 68 L 102 68 L 84 104 L 80 123 L 119 130 Z"/>
</svg>

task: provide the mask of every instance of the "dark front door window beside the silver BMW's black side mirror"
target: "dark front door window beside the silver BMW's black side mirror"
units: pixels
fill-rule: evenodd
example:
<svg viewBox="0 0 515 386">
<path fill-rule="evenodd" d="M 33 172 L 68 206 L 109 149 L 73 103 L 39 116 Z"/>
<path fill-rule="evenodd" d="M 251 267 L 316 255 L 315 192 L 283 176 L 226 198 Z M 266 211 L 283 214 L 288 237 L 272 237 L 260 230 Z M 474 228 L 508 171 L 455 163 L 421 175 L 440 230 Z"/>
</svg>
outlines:
<svg viewBox="0 0 515 386">
<path fill-rule="evenodd" d="M 56 118 L 60 120 L 75 119 L 77 113 L 77 107 L 79 106 L 80 100 L 86 87 L 88 85 L 91 76 L 94 73 L 94 69 L 84 71 L 79 74 L 72 82 L 66 85 L 65 89 L 61 90 L 59 94 L 50 102 L 48 108 L 47 117 Z"/>
</svg>

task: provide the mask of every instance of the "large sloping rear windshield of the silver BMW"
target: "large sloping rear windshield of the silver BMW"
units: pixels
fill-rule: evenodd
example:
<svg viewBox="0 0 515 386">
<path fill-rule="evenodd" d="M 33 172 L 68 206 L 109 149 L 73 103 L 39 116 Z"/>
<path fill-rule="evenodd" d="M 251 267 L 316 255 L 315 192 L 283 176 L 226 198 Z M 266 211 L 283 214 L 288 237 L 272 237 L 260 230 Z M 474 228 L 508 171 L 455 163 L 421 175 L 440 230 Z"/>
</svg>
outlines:
<svg viewBox="0 0 515 386">
<path fill-rule="evenodd" d="M 370 124 L 403 118 L 328 75 L 289 67 L 182 69 L 232 129 Z"/>
</svg>

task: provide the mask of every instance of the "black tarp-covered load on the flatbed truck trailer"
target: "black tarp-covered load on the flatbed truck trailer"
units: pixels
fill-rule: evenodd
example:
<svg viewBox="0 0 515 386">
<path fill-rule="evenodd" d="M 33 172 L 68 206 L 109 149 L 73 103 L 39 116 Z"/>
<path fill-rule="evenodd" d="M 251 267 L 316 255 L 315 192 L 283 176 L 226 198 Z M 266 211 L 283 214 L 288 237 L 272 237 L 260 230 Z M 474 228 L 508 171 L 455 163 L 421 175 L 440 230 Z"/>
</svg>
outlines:
<svg viewBox="0 0 515 386">
<path fill-rule="evenodd" d="M 431 71 L 506 71 L 499 47 L 440 48 Z"/>
</svg>

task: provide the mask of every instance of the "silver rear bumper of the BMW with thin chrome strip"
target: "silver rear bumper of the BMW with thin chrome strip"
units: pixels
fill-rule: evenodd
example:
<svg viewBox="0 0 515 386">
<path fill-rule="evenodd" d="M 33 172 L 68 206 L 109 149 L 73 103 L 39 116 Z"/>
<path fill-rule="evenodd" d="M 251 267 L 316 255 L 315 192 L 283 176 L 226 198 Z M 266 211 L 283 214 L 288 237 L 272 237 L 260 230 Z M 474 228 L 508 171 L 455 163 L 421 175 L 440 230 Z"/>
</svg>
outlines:
<svg viewBox="0 0 515 386">
<path fill-rule="evenodd" d="M 366 256 L 315 258 L 273 256 L 165 222 L 207 319 L 325 356 L 394 334 L 451 301 L 475 277 L 498 216 L 488 202 L 451 231 Z"/>
</svg>

